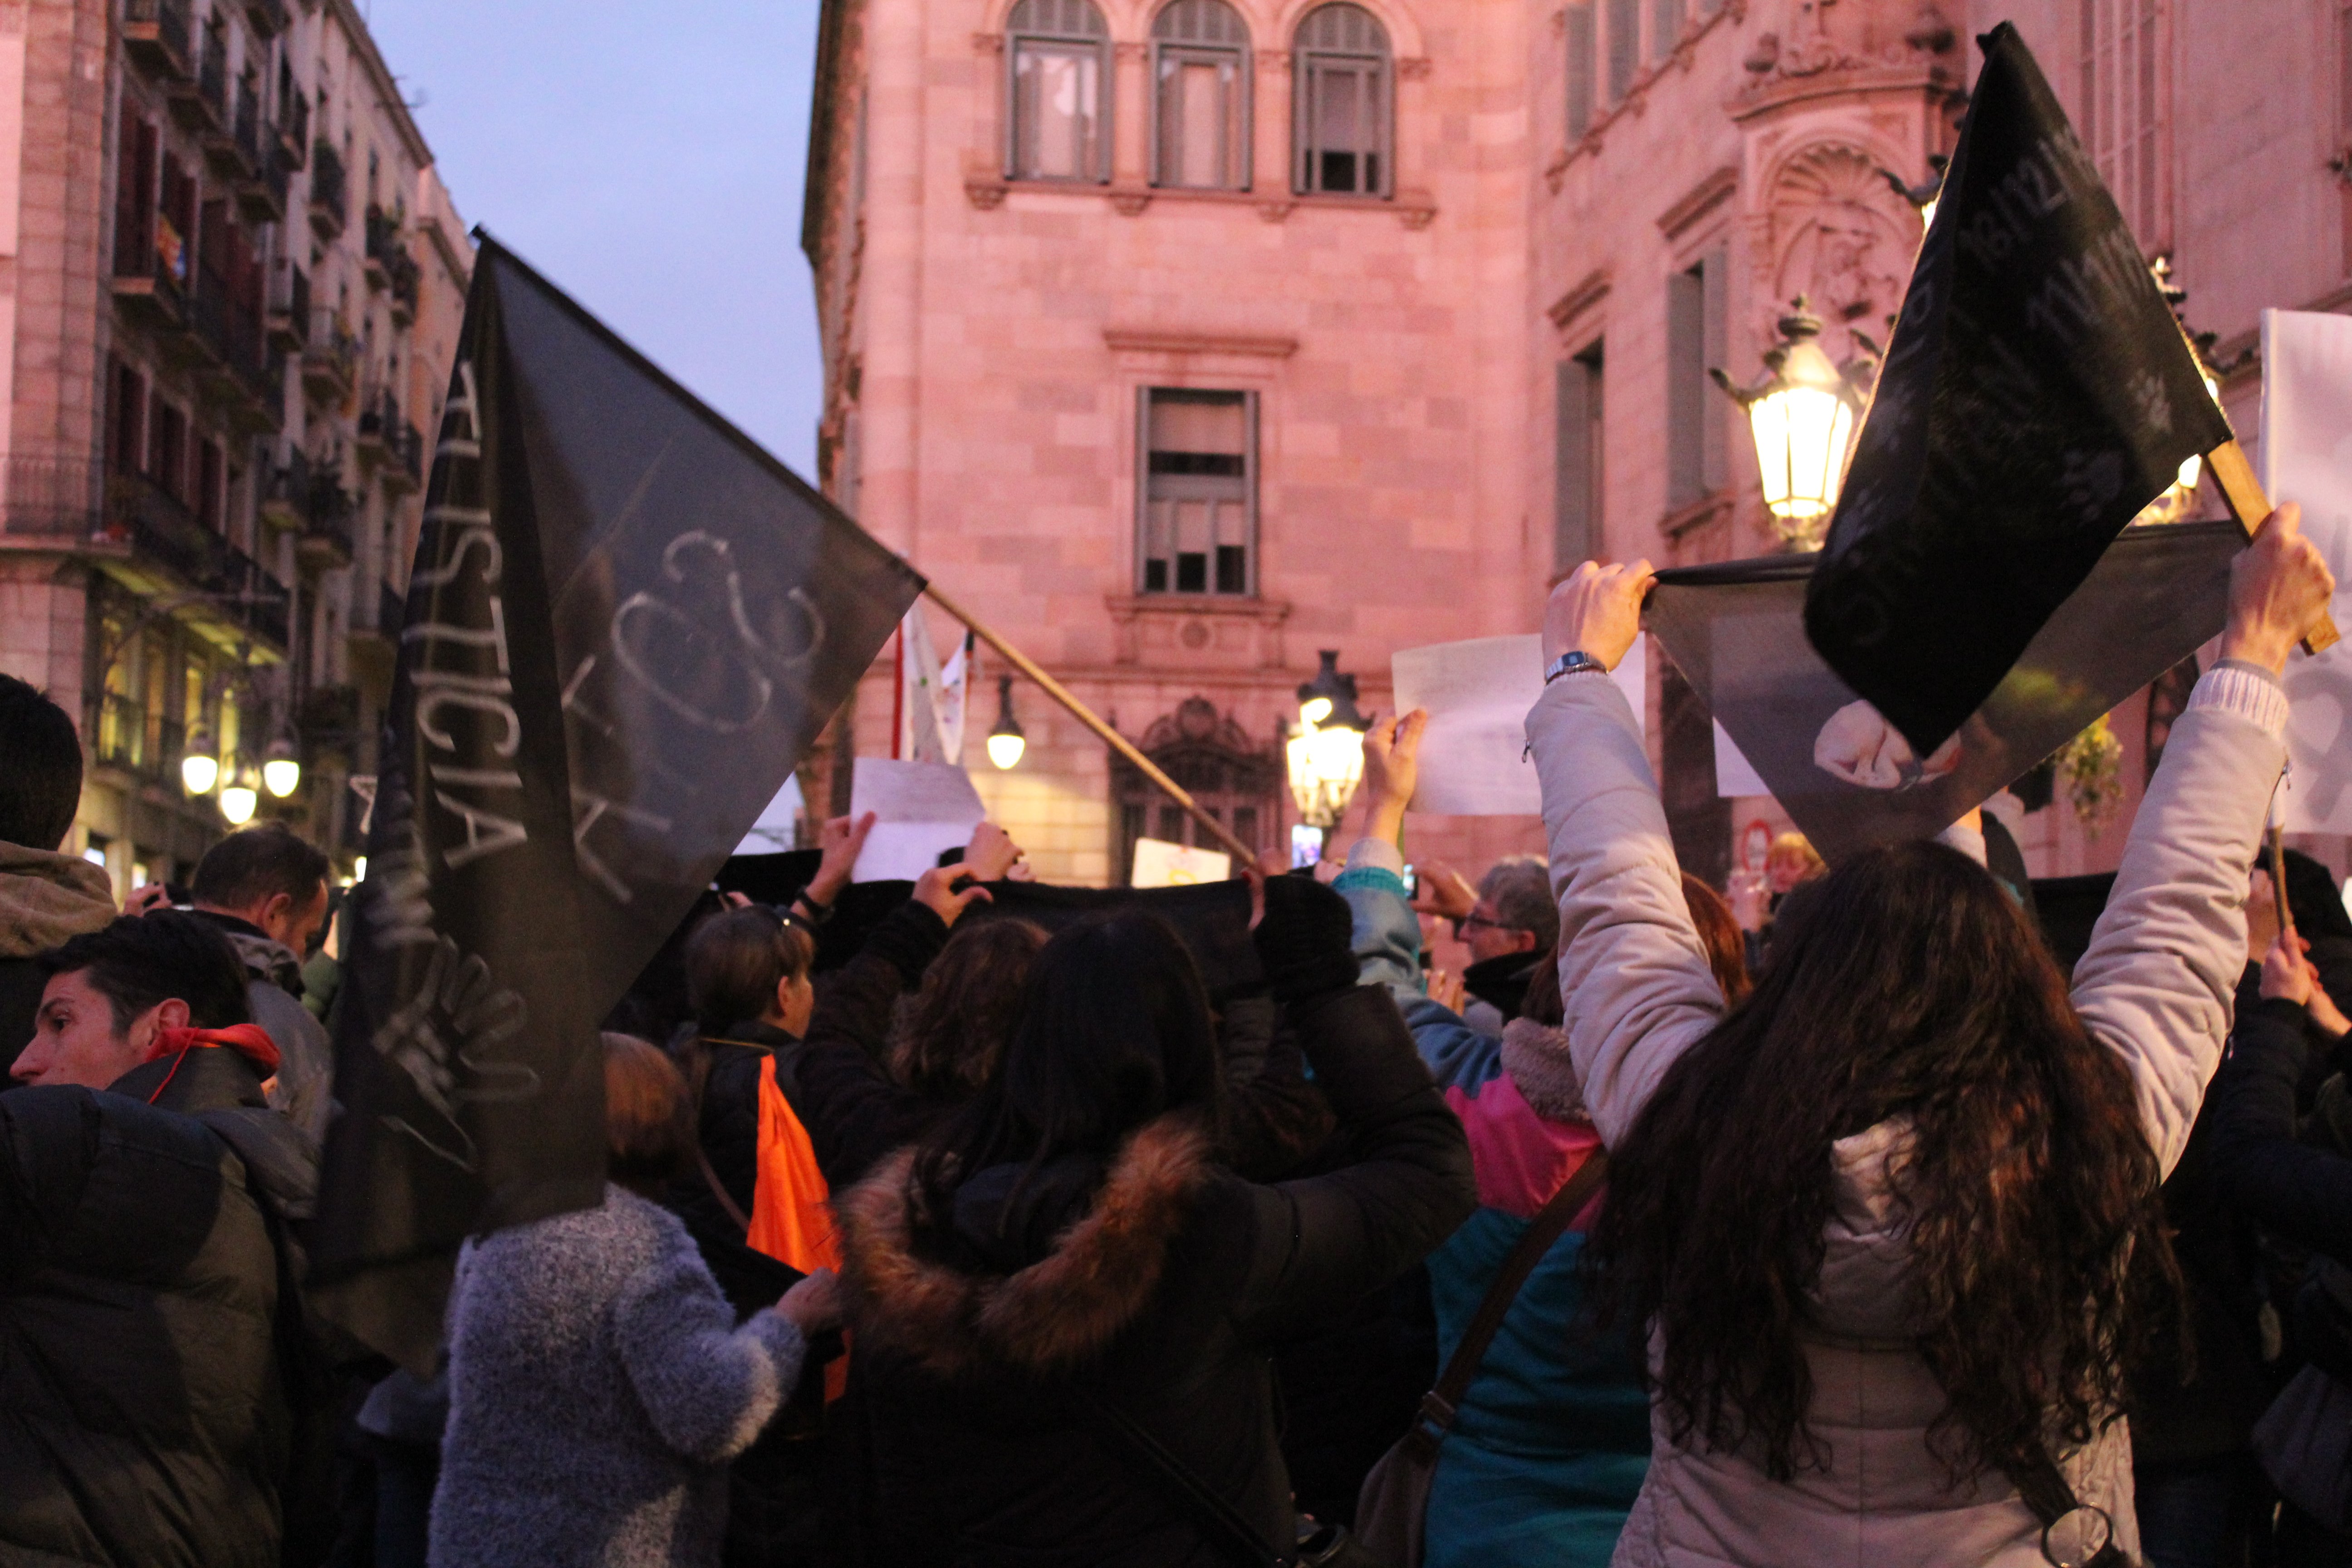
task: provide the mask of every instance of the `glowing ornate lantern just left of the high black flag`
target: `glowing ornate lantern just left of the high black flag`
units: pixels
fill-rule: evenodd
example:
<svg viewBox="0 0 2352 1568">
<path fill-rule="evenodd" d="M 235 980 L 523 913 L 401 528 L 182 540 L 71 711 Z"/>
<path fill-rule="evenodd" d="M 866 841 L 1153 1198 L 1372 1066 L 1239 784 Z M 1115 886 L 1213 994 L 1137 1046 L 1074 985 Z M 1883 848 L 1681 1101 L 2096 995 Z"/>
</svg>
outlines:
<svg viewBox="0 0 2352 1568">
<path fill-rule="evenodd" d="M 1856 334 L 1858 336 L 1858 334 Z M 1853 425 L 1867 407 L 1877 360 L 1830 364 L 1820 343 L 1820 317 L 1799 294 L 1780 317 L 1780 341 L 1764 350 L 1764 374 L 1738 386 L 1719 369 L 1708 374 L 1748 414 L 1764 475 L 1764 505 L 1773 531 L 1792 550 L 1818 550 L 1828 517 L 1837 510 L 1837 487 L 1846 480 Z"/>
</svg>

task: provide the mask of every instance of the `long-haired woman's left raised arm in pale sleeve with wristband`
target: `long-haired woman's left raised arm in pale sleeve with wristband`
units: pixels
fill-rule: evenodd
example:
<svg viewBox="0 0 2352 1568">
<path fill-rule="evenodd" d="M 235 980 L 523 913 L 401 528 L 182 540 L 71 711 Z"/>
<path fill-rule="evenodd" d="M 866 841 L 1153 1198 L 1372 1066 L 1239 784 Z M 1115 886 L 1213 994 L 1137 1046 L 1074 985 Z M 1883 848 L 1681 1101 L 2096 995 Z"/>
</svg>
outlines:
<svg viewBox="0 0 2352 1568">
<path fill-rule="evenodd" d="M 1682 867 L 1642 731 L 1606 675 L 1632 646 L 1646 590 L 1649 562 L 1585 562 L 1552 590 L 1545 668 L 1569 651 L 1597 668 L 1550 679 L 1526 715 L 1559 900 L 1569 1056 L 1611 1145 L 1632 1128 L 1672 1060 L 1724 1011 L 1682 900 Z"/>
</svg>

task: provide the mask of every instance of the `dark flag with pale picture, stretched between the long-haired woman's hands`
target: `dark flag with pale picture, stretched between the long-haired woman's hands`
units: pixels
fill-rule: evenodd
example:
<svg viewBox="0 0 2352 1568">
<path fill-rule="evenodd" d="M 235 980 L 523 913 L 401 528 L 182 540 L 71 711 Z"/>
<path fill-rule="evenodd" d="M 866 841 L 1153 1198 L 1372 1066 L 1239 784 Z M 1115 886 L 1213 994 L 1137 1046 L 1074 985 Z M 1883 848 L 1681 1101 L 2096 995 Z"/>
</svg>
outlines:
<svg viewBox="0 0 2352 1568">
<path fill-rule="evenodd" d="M 2244 548 L 2234 522 L 2126 529 L 1931 752 L 1806 642 L 1813 555 L 1661 571 L 1646 623 L 1773 799 L 1839 860 L 1940 832 L 2220 635 Z"/>
</svg>

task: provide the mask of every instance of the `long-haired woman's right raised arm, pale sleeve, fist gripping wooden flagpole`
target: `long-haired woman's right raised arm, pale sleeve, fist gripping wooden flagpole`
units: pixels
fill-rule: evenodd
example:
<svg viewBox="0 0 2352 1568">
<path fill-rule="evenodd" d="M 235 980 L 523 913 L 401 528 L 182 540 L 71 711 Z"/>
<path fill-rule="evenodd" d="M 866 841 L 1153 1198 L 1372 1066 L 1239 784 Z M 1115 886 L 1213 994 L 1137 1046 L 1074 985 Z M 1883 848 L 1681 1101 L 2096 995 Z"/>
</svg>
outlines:
<svg viewBox="0 0 2352 1568">
<path fill-rule="evenodd" d="M 2131 823 L 2124 865 L 2074 966 L 2074 1011 L 2131 1067 L 2169 1173 L 2230 1034 L 2246 959 L 2246 879 L 2286 766 L 2279 672 L 2336 592 L 2281 505 L 2230 567 L 2220 663 L 2190 693 Z"/>
</svg>

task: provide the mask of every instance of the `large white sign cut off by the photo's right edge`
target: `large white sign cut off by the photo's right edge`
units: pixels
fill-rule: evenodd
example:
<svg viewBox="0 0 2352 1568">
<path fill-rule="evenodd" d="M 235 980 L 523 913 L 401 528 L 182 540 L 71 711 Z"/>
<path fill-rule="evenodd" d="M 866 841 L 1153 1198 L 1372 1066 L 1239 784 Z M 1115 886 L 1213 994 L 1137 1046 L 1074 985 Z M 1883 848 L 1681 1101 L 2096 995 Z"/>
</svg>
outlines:
<svg viewBox="0 0 2352 1568">
<path fill-rule="evenodd" d="M 2352 625 L 2352 317 L 2263 313 L 2263 489 L 2303 505 Z M 2286 658 L 2286 827 L 2352 832 L 2352 642 Z"/>
</svg>

